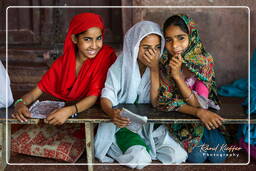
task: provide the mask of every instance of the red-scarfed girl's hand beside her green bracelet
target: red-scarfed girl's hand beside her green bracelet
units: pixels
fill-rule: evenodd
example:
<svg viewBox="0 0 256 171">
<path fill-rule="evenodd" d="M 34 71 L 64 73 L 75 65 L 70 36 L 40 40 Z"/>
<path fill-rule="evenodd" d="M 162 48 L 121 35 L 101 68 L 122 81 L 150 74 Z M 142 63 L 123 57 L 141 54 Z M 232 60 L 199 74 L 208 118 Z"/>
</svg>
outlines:
<svg viewBox="0 0 256 171">
<path fill-rule="evenodd" d="M 31 118 L 31 113 L 28 110 L 28 107 L 24 105 L 23 103 L 18 103 L 15 106 L 14 113 L 12 114 L 12 117 L 15 119 L 18 119 L 20 122 L 27 122 L 27 118 Z"/>
</svg>

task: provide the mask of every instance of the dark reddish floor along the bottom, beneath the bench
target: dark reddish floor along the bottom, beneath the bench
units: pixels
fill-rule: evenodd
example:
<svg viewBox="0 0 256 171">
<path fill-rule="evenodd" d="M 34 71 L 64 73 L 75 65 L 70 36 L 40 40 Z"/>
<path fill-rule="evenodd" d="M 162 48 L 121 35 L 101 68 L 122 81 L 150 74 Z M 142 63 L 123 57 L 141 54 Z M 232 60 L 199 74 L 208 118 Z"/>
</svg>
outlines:
<svg viewBox="0 0 256 171">
<path fill-rule="evenodd" d="M 96 161 L 97 162 L 97 161 Z M 247 154 L 244 151 L 239 152 L 239 157 L 230 157 L 226 160 L 226 164 L 237 164 L 237 163 L 246 163 L 247 162 Z M 45 159 L 40 157 L 32 157 L 27 155 L 22 155 L 18 153 L 12 153 L 10 163 L 60 163 L 59 161 L 52 159 Z M 86 153 L 84 153 L 78 161 L 79 163 L 86 163 Z M 98 163 L 98 162 L 97 162 Z M 159 165 L 151 165 L 147 166 L 143 169 L 143 171 L 210 171 L 210 170 L 237 170 L 237 171 L 250 171 L 256 170 L 256 161 L 251 160 L 249 165 L 238 166 L 238 165 L 161 165 L 158 162 L 154 162 L 153 164 Z M 8 165 L 5 171 L 86 171 L 86 165 Z M 120 165 L 97 165 L 94 166 L 95 171 L 131 171 L 133 169 L 127 168 L 125 166 Z"/>
</svg>

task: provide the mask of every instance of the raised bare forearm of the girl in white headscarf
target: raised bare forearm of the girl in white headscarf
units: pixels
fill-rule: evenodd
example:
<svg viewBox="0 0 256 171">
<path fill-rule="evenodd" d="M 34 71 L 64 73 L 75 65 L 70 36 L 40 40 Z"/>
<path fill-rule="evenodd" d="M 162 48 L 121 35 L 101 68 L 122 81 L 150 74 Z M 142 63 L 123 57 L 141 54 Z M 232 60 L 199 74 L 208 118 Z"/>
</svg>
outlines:
<svg viewBox="0 0 256 171">
<path fill-rule="evenodd" d="M 151 80 L 151 87 L 150 87 L 150 100 L 151 104 L 156 107 L 158 101 L 158 90 L 159 90 L 159 68 L 151 69 L 150 70 L 150 80 Z"/>
</svg>

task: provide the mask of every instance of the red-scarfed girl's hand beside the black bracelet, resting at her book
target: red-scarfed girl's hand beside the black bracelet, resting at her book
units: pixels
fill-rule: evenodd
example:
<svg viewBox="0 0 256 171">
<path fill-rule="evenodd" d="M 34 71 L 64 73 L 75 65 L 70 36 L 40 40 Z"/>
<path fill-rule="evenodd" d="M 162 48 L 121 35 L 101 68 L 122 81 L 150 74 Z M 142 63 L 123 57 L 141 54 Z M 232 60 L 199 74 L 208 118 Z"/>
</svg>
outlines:
<svg viewBox="0 0 256 171">
<path fill-rule="evenodd" d="M 62 125 L 74 113 L 74 106 L 67 106 L 52 111 L 44 122 L 50 125 Z"/>
</svg>

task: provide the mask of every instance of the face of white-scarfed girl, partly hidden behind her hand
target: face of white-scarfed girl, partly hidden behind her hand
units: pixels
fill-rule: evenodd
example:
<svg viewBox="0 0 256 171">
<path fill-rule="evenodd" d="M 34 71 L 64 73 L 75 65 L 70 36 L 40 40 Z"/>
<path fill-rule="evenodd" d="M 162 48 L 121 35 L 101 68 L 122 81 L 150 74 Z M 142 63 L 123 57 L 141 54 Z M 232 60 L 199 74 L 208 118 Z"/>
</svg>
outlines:
<svg viewBox="0 0 256 171">
<path fill-rule="evenodd" d="M 139 55 L 138 55 L 138 60 L 145 64 L 145 59 L 143 59 L 143 56 L 146 51 L 149 49 L 154 50 L 155 52 L 158 52 L 160 54 L 161 50 L 161 38 L 160 36 L 156 34 L 150 34 L 142 39 L 140 42 L 140 47 L 139 47 Z"/>
</svg>

